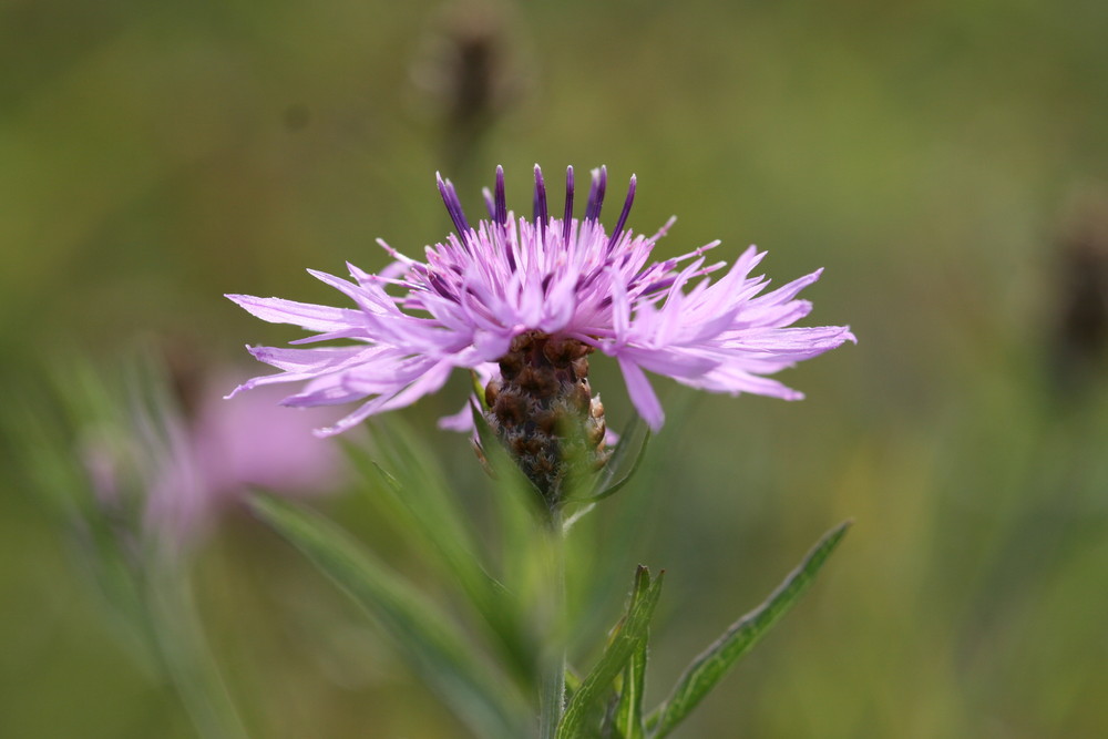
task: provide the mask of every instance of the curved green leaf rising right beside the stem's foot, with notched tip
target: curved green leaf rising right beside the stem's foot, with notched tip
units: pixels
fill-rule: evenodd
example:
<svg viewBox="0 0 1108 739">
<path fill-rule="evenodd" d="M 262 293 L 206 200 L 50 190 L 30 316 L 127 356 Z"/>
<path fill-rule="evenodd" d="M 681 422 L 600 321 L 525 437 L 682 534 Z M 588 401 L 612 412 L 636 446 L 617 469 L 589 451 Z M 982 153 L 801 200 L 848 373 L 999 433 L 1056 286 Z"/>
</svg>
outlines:
<svg viewBox="0 0 1108 739">
<path fill-rule="evenodd" d="M 658 573 L 652 583 L 650 573 L 646 567 L 639 566 L 636 571 L 627 615 L 616 627 L 599 661 L 574 691 L 557 727 L 556 739 L 576 739 L 585 732 L 585 721 L 594 707 L 602 700 L 616 676 L 627 666 L 632 656 L 645 646 L 650 618 L 661 596 L 664 576 L 665 572 Z"/>
</svg>

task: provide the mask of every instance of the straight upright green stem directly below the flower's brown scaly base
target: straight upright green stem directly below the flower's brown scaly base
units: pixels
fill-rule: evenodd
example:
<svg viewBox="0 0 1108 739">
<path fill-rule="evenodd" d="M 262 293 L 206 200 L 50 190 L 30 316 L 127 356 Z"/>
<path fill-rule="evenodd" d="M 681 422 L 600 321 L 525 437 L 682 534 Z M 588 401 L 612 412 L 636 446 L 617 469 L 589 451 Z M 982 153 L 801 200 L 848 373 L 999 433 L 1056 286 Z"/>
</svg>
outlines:
<svg viewBox="0 0 1108 739">
<path fill-rule="evenodd" d="M 542 674 L 538 680 L 538 737 L 554 739 L 565 708 L 565 534 L 561 510 L 551 511 L 545 532 L 543 564 L 545 609 Z"/>
</svg>

